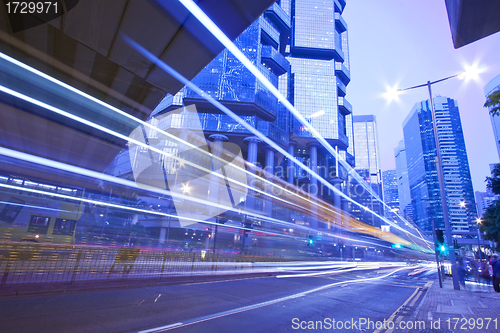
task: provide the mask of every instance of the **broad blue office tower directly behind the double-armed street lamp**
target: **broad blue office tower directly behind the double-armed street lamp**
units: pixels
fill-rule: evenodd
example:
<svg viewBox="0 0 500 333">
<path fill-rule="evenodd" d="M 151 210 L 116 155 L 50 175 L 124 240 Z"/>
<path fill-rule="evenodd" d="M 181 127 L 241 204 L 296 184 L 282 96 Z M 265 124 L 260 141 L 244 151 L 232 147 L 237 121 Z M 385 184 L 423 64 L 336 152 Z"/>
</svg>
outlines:
<svg viewBox="0 0 500 333">
<path fill-rule="evenodd" d="M 447 97 L 433 100 L 451 227 L 468 231 L 477 212 L 458 105 Z M 432 231 L 434 220 L 435 228 L 444 230 L 429 100 L 415 104 L 403 122 L 403 133 L 414 222 Z"/>
</svg>

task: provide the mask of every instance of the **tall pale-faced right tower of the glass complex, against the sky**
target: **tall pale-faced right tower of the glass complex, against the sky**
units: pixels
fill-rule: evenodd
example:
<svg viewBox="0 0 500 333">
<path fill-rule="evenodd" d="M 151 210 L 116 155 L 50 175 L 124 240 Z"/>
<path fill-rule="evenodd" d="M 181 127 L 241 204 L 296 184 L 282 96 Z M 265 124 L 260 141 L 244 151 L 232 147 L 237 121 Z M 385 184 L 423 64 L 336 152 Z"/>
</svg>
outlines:
<svg viewBox="0 0 500 333">
<path fill-rule="evenodd" d="M 290 100 L 341 158 L 354 165 L 352 106 L 345 98 L 350 82 L 347 24 L 342 18 L 345 1 L 286 0 L 281 6 L 292 22 L 287 46 L 292 67 Z M 334 157 L 295 118 L 290 139 L 289 151 L 317 168 L 322 177 L 336 185 L 346 180 Z M 292 171 L 289 181 L 324 194 L 316 179 L 299 168 Z"/>
</svg>

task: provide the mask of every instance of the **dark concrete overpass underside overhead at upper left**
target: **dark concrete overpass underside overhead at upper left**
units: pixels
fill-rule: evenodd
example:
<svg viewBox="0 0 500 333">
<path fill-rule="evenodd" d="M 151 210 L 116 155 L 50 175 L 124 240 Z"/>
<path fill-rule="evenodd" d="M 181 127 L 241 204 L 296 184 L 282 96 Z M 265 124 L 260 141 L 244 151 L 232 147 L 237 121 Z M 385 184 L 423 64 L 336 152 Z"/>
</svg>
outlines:
<svg viewBox="0 0 500 333">
<path fill-rule="evenodd" d="M 166 93 L 175 94 L 183 85 L 134 51 L 122 35 L 188 79 L 223 50 L 178 1 L 158 2 L 62 0 L 64 13 L 50 17 L 8 15 L 6 7 L 0 6 L 0 52 L 145 120 Z M 235 39 L 274 2 L 201 0 L 198 5 Z M 0 85 L 17 87 L 49 104 L 57 102 L 58 108 L 124 135 L 137 126 L 105 118 L 65 89 L 35 84 L 41 80 L 36 74 L 18 70 L 2 60 Z M 0 146 L 100 172 L 127 142 L 3 92 L 0 118 Z M 1 161 L 3 172 L 19 173 L 15 164 Z M 58 182 L 59 176 L 41 176 L 36 169 L 22 172 L 29 178 L 40 174 L 45 181 Z"/>
</svg>

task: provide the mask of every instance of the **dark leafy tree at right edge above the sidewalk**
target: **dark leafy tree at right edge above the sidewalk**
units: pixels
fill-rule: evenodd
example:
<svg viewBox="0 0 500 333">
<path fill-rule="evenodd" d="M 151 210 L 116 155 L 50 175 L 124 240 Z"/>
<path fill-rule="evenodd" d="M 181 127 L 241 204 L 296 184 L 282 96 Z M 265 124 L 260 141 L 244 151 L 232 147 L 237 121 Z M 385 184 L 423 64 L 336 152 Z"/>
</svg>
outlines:
<svg viewBox="0 0 500 333">
<path fill-rule="evenodd" d="M 497 111 L 498 112 L 498 111 Z M 500 194 L 500 163 L 495 164 L 491 177 L 486 177 L 487 187 L 495 194 Z M 484 239 L 494 241 L 500 250 L 500 200 L 495 200 L 483 215 L 481 231 L 486 232 Z"/>
</svg>

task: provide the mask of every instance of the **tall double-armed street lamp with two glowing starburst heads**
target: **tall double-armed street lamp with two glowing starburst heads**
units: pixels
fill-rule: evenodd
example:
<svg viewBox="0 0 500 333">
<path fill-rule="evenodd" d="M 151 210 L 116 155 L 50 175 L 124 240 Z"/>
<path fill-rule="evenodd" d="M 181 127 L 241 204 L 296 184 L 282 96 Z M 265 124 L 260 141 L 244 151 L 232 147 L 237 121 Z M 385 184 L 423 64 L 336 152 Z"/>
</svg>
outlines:
<svg viewBox="0 0 500 333">
<path fill-rule="evenodd" d="M 473 73 L 474 72 L 474 73 Z M 438 139 L 438 132 L 437 132 L 437 122 L 436 122 L 436 111 L 434 110 L 434 101 L 432 99 L 432 90 L 431 86 L 433 84 L 446 81 L 455 77 L 460 77 L 464 78 L 465 76 L 470 76 L 471 74 L 477 74 L 477 69 L 470 68 L 468 71 L 461 72 L 456 75 L 448 76 L 445 77 L 444 79 L 436 80 L 436 81 L 427 81 L 427 83 L 420 84 L 418 86 L 413 86 L 405 89 L 391 89 L 388 91 L 385 96 L 387 99 L 395 99 L 397 95 L 403 91 L 406 90 L 411 90 L 411 89 L 416 89 L 416 88 L 422 88 L 422 87 L 427 87 L 429 91 L 429 102 L 431 104 L 431 115 L 432 115 L 432 126 L 434 127 L 434 142 L 436 145 L 436 168 L 437 168 L 437 173 L 438 173 L 438 181 L 439 181 L 439 192 L 441 194 L 441 206 L 443 207 L 443 219 L 444 219 L 444 225 L 446 229 L 446 238 L 448 241 L 448 252 L 449 252 L 449 258 L 450 258 L 450 263 L 451 263 L 451 274 L 453 278 L 453 288 L 455 290 L 460 290 L 460 284 L 458 281 L 458 267 L 456 263 L 456 257 L 455 257 L 455 249 L 453 247 L 453 242 L 451 238 L 451 225 L 450 225 L 450 217 L 448 213 L 448 202 L 446 200 L 446 190 L 444 187 L 444 176 L 443 176 L 443 168 L 441 166 L 441 150 L 439 147 L 439 139 Z M 435 232 L 435 230 L 434 230 Z"/>
</svg>

